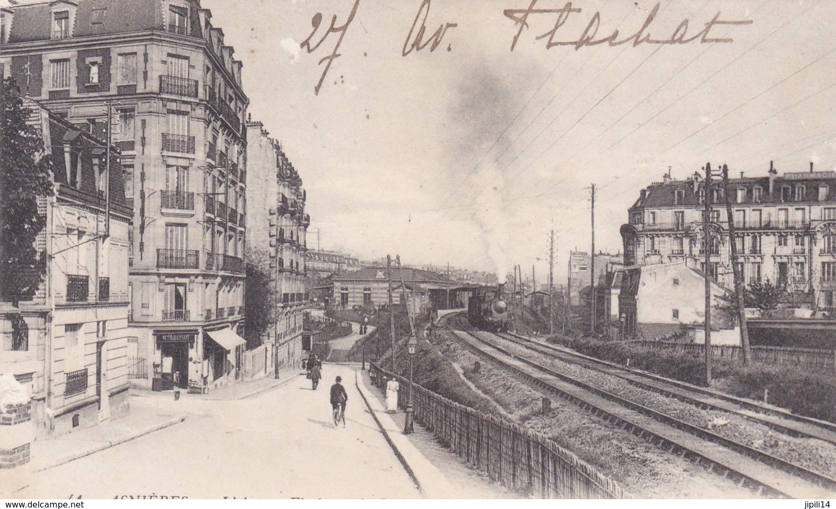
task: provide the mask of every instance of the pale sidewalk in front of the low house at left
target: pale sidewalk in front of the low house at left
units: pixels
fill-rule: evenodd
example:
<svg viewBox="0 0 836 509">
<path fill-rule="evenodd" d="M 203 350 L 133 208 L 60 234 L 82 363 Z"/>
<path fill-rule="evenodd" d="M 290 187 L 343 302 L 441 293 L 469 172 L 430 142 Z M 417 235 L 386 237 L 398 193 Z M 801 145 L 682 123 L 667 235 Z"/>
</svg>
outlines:
<svg viewBox="0 0 836 509">
<path fill-rule="evenodd" d="M 99 423 L 55 438 L 41 438 L 31 445 L 28 468 L 43 471 L 89 456 L 114 445 L 148 435 L 186 420 L 186 413 L 156 408 L 131 396 L 130 415 Z"/>
</svg>

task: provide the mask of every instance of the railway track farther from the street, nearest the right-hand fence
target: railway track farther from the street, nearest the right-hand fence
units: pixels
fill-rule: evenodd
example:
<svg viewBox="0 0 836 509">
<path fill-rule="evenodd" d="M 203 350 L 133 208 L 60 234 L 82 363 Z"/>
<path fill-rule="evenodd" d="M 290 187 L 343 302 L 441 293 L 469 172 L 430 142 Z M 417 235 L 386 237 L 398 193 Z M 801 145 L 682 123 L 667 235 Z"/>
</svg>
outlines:
<svg viewBox="0 0 836 509">
<path fill-rule="evenodd" d="M 760 405 L 757 402 L 743 400 L 730 394 L 697 387 L 677 380 L 666 379 L 655 374 L 646 373 L 638 369 L 630 369 L 619 364 L 594 359 L 579 354 L 570 349 L 548 344 L 537 339 L 527 338 L 517 333 L 499 333 L 500 338 L 507 339 L 524 348 L 533 349 L 541 354 L 547 354 L 564 362 L 578 364 L 586 369 L 593 369 L 599 373 L 609 374 L 623 379 L 640 389 L 650 390 L 668 398 L 694 405 L 703 410 L 721 410 L 766 425 L 785 435 L 814 438 L 831 444 L 836 444 L 836 425 L 827 421 L 795 415 L 780 408 Z"/>
</svg>

